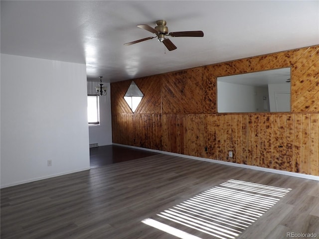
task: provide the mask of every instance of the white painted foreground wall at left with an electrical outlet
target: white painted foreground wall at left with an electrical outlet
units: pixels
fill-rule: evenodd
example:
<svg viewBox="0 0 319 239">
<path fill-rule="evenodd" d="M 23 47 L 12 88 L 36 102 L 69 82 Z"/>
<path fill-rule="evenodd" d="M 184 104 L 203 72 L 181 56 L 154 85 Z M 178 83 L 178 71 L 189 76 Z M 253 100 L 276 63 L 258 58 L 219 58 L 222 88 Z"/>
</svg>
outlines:
<svg viewBox="0 0 319 239">
<path fill-rule="evenodd" d="M 90 168 L 84 64 L 1 54 L 0 83 L 1 187 Z"/>
</svg>

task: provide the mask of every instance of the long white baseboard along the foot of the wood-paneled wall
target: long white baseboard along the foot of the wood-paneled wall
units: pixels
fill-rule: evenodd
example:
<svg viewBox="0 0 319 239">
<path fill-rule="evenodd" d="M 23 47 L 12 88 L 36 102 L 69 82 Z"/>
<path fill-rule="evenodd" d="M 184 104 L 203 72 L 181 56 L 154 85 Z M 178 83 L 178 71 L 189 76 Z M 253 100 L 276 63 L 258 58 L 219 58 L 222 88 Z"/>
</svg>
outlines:
<svg viewBox="0 0 319 239">
<path fill-rule="evenodd" d="M 119 143 L 113 143 L 113 145 L 135 148 L 135 149 L 142 149 L 142 150 L 146 150 L 146 151 L 162 153 L 162 154 L 167 154 L 167 155 L 172 155 L 172 156 L 178 156 L 178 157 L 183 157 L 183 158 L 196 159 L 196 160 L 201 160 L 201 161 L 206 161 L 206 162 L 211 162 L 211 163 L 219 163 L 219 164 L 225 164 L 225 165 L 229 165 L 229 166 L 249 168 L 249 169 L 254 169 L 254 170 L 258 170 L 258 171 L 277 173 L 277 174 L 288 175 L 288 176 L 292 176 L 292 177 L 305 178 L 305 179 L 319 181 L 319 176 L 314 176 L 314 175 L 309 175 L 309 174 L 294 173 L 294 172 L 282 171 L 282 170 L 278 170 L 278 169 L 250 166 L 250 165 L 240 164 L 240 163 L 225 162 L 225 161 L 220 161 L 220 160 L 215 160 L 215 159 L 201 158 L 201 157 L 189 156 L 189 155 L 184 155 L 184 154 L 179 154 L 179 153 L 171 153 L 171 152 L 166 152 L 166 151 L 161 151 L 161 150 L 124 145 L 124 144 L 119 144 Z"/>
</svg>

